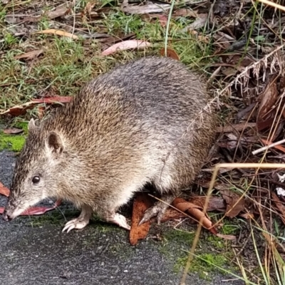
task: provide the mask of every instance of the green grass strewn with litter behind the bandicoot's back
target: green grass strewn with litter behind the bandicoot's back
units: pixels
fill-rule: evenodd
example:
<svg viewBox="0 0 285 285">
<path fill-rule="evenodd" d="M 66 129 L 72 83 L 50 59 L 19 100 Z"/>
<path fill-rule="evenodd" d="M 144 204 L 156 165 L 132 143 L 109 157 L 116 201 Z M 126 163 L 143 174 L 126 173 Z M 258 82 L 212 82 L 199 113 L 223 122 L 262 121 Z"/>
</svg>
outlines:
<svg viewBox="0 0 285 285">
<path fill-rule="evenodd" d="M 48 19 L 41 19 L 38 30 L 50 28 L 49 24 Z M 190 21 L 182 18 L 172 20 L 169 46 L 175 49 L 182 62 L 201 69 L 207 64 L 211 46 L 201 46 L 195 37 L 181 33 L 180 30 L 188 24 Z M 0 87 L 3 94 L 0 110 L 25 103 L 38 95 L 75 95 L 90 78 L 109 71 L 116 62 L 124 63 L 145 56 L 146 51 L 147 54 L 158 55 L 164 46 L 165 28 L 158 21 L 152 24 L 142 21 L 138 15 L 115 11 L 98 21 L 98 25 L 105 26 L 108 33 L 115 36 L 135 33 L 136 38 L 150 41 L 154 46 L 145 51 L 120 51 L 113 56 L 102 57 L 101 45 L 95 40 L 86 42 L 59 36 L 31 35 L 26 43 L 5 30 L 1 43 L 5 52 L 0 56 Z M 94 30 L 94 27 L 90 29 Z M 31 61 L 14 58 L 37 48 L 45 48 L 38 58 Z"/>
</svg>

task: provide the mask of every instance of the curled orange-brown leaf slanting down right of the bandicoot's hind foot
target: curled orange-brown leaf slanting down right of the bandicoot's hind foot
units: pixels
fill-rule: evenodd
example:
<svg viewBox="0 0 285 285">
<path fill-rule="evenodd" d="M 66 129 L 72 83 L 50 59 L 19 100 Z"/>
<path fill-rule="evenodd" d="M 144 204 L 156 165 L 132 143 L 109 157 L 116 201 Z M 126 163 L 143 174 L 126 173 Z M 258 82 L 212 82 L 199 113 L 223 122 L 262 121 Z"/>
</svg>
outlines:
<svg viewBox="0 0 285 285">
<path fill-rule="evenodd" d="M 212 234 L 217 234 L 217 230 L 212 227 L 212 222 L 203 214 L 202 207 L 199 207 L 191 202 L 187 202 L 185 199 L 176 198 L 172 203 L 173 207 L 179 209 L 181 212 L 188 212 L 192 217 L 195 217 L 197 221 L 202 222 L 202 226 L 208 229 Z"/>
</svg>

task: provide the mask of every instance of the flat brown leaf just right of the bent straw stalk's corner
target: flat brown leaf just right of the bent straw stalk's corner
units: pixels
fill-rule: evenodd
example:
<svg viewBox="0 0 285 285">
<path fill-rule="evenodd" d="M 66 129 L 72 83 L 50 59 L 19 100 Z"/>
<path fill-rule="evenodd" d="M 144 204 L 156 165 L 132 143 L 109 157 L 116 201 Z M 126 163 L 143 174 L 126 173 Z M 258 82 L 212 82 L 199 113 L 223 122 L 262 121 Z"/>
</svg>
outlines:
<svg viewBox="0 0 285 285">
<path fill-rule="evenodd" d="M 220 192 L 227 202 L 227 217 L 236 217 L 244 210 L 244 197 L 241 198 L 237 193 L 230 190 L 221 190 Z"/>
</svg>

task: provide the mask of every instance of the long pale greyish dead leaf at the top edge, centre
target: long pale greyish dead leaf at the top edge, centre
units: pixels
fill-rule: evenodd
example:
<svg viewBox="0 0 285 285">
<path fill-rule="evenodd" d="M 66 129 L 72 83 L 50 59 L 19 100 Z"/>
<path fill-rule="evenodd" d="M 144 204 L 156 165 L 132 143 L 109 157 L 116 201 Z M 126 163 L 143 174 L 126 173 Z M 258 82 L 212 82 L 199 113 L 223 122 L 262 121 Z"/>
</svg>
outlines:
<svg viewBox="0 0 285 285">
<path fill-rule="evenodd" d="M 123 1 L 120 9 L 124 13 L 128 14 L 149 14 L 149 13 L 161 13 L 170 9 L 170 4 L 152 4 L 151 2 L 146 5 L 129 5 L 128 1 Z"/>
</svg>

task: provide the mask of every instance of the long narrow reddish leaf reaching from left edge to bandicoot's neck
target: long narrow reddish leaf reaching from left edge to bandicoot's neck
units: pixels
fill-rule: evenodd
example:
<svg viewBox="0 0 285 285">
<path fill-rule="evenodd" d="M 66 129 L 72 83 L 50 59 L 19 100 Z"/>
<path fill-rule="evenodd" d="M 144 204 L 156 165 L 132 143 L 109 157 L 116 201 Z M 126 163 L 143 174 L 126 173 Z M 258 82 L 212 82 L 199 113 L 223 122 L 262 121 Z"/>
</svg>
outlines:
<svg viewBox="0 0 285 285">
<path fill-rule="evenodd" d="M 70 96 L 54 96 L 54 97 L 45 97 L 41 99 L 33 99 L 30 102 L 24 103 L 22 105 L 16 105 L 2 113 L 0 115 L 14 115 L 19 116 L 26 113 L 26 110 L 32 109 L 38 104 L 53 104 L 53 103 L 68 103 L 71 102 L 72 97 Z"/>
</svg>

